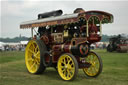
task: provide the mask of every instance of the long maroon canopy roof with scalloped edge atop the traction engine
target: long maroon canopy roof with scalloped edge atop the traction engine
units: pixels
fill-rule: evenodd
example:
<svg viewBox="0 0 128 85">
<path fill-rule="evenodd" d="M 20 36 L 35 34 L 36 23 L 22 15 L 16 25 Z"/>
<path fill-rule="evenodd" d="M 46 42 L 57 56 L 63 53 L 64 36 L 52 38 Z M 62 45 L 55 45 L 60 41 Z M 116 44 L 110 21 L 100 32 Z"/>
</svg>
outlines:
<svg viewBox="0 0 128 85">
<path fill-rule="evenodd" d="M 92 18 L 95 22 L 112 23 L 113 15 L 103 11 L 86 11 L 83 13 L 65 14 L 62 16 L 52 16 L 43 19 L 31 20 L 22 22 L 20 28 L 33 28 L 33 27 L 43 27 L 43 26 L 53 26 L 53 25 L 63 25 L 78 23 L 81 18 L 85 21 L 91 21 Z"/>
</svg>

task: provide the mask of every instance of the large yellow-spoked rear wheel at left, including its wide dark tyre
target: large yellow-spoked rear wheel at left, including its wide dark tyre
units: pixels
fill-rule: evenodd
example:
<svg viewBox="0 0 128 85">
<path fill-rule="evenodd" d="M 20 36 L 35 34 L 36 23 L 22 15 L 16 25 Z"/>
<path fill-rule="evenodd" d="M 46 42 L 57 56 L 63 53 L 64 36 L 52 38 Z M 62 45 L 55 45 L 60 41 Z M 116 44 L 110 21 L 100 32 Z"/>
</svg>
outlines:
<svg viewBox="0 0 128 85">
<path fill-rule="evenodd" d="M 40 74 L 44 72 L 42 58 L 44 47 L 41 40 L 30 40 L 25 50 L 25 64 L 29 73 Z"/>
</svg>

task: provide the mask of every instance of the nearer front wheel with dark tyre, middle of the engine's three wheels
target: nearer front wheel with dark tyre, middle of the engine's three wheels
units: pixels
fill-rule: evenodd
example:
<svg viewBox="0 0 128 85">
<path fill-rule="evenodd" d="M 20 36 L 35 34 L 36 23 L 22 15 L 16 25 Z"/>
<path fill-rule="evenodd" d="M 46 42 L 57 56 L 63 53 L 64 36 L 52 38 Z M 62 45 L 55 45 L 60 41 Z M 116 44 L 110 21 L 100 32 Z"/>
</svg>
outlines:
<svg viewBox="0 0 128 85">
<path fill-rule="evenodd" d="M 76 58 L 69 53 L 65 53 L 58 59 L 58 73 L 63 80 L 73 80 L 78 73 L 78 63 Z"/>
</svg>

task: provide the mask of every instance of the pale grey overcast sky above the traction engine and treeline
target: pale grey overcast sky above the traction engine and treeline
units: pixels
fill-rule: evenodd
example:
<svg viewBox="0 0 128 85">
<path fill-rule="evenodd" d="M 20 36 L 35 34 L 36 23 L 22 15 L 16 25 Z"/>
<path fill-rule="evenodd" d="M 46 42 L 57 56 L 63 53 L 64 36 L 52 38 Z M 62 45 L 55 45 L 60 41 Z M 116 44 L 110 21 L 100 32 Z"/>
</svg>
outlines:
<svg viewBox="0 0 128 85">
<path fill-rule="evenodd" d="M 128 0 L 0 0 L 0 37 L 31 36 L 30 29 L 20 23 L 37 19 L 39 13 L 62 9 L 71 14 L 76 8 L 100 10 L 113 14 L 114 22 L 102 25 L 103 34 L 128 34 Z"/>
</svg>

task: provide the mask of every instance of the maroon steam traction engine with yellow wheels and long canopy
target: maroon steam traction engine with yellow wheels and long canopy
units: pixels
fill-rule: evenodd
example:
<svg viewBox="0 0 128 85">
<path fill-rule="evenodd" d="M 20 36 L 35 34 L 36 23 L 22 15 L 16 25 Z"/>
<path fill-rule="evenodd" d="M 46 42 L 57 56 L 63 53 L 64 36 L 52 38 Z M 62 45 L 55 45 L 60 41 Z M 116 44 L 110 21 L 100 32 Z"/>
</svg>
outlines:
<svg viewBox="0 0 128 85">
<path fill-rule="evenodd" d="M 40 74 L 46 67 L 54 67 L 63 80 L 73 80 L 78 69 L 83 69 L 88 77 L 97 77 L 102 60 L 90 51 L 90 45 L 101 40 L 101 24 L 112 22 L 112 14 L 77 8 L 73 14 L 62 15 L 57 10 L 21 23 L 21 29 L 31 28 L 32 32 L 25 51 L 27 70 Z"/>
</svg>

